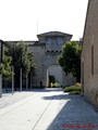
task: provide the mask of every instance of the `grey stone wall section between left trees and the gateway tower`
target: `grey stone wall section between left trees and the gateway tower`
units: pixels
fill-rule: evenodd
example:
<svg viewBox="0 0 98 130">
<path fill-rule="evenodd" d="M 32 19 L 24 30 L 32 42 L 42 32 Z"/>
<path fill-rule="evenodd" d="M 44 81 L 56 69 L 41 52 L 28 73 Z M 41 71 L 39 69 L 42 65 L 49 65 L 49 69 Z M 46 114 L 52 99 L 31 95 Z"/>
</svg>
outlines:
<svg viewBox="0 0 98 130">
<path fill-rule="evenodd" d="M 42 81 L 44 86 L 46 84 L 46 53 L 45 46 L 30 46 L 28 51 L 34 53 L 34 63 L 36 64 L 35 76 L 32 78 L 33 87 L 39 87 L 39 82 Z"/>
</svg>

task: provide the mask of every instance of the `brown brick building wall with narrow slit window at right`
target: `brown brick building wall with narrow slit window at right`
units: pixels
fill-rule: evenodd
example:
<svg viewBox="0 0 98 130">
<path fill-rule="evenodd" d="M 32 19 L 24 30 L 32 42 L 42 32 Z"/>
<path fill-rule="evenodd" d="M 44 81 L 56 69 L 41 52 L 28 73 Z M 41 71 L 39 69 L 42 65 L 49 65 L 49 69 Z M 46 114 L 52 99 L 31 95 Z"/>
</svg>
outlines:
<svg viewBox="0 0 98 130">
<path fill-rule="evenodd" d="M 98 0 L 88 0 L 82 50 L 82 84 L 85 99 L 98 108 Z"/>
</svg>

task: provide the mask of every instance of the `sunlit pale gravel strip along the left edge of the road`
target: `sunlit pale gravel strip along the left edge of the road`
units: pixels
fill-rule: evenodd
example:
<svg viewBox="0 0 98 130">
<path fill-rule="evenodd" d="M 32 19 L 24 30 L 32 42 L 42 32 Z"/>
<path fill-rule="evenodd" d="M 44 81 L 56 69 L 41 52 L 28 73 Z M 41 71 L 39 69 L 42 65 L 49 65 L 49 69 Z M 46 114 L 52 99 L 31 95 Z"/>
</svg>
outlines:
<svg viewBox="0 0 98 130">
<path fill-rule="evenodd" d="M 0 108 L 4 108 L 13 103 L 16 103 L 23 99 L 26 99 L 34 94 L 34 91 L 16 91 L 14 94 L 12 93 L 4 93 L 2 94 L 2 98 L 0 99 Z"/>
</svg>

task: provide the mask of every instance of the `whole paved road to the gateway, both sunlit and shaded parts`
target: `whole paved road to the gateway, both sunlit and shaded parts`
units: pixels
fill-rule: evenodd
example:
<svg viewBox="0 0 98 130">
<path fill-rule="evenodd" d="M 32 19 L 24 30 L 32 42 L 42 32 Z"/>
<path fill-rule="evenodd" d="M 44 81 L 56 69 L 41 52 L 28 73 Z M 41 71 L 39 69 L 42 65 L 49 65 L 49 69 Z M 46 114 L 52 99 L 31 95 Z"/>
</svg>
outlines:
<svg viewBox="0 0 98 130">
<path fill-rule="evenodd" d="M 36 91 L 0 109 L 0 130 L 98 130 L 97 126 L 98 113 L 83 96 L 57 89 Z"/>
</svg>

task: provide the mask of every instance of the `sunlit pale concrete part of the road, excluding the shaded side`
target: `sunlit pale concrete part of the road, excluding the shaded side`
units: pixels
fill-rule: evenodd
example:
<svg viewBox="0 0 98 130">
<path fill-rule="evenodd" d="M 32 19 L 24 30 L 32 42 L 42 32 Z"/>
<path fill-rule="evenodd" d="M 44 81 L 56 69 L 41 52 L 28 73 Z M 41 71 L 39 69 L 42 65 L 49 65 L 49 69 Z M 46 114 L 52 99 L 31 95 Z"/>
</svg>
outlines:
<svg viewBox="0 0 98 130">
<path fill-rule="evenodd" d="M 29 98 L 22 100 L 13 105 L 0 109 L 0 129 L 1 130 L 46 130 L 51 120 L 57 115 L 58 102 L 53 107 L 51 103 L 53 98 L 61 91 L 45 90 L 35 92 Z M 49 96 L 49 100 L 44 98 Z M 54 101 L 53 101 L 54 102 Z M 50 108 L 49 108 L 50 107 Z M 48 108 L 52 113 L 47 112 Z M 47 120 L 40 122 L 45 113 L 48 113 Z M 37 126 L 40 127 L 37 127 Z"/>
</svg>

